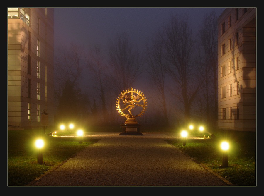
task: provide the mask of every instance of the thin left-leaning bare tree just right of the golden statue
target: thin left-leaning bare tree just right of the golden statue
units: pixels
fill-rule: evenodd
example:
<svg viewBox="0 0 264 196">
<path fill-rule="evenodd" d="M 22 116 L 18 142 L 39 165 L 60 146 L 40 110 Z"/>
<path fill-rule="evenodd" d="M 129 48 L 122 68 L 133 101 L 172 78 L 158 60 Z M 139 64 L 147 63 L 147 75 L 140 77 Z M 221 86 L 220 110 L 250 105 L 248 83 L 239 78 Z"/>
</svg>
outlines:
<svg viewBox="0 0 264 196">
<path fill-rule="evenodd" d="M 169 125 L 169 115 L 167 112 L 166 98 L 165 98 L 165 66 L 163 42 L 160 33 L 157 33 L 151 40 L 150 45 L 146 46 L 146 61 L 148 63 L 148 74 L 151 82 L 158 90 L 154 95 L 155 103 L 160 106 L 165 119 L 165 124 Z"/>
</svg>

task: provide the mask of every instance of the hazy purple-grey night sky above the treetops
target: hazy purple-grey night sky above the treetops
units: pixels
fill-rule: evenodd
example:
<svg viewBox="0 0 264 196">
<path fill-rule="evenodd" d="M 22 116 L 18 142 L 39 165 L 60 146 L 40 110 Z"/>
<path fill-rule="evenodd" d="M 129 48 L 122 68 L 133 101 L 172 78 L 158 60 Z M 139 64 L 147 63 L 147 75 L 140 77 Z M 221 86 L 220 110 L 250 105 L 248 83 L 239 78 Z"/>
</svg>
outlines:
<svg viewBox="0 0 264 196">
<path fill-rule="evenodd" d="M 192 32 L 196 35 L 205 13 L 215 11 L 219 17 L 224 9 L 54 8 L 54 55 L 59 46 L 67 46 L 70 42 L 83 45 L 84 49 L 87 49 L 89 43 L 99 44 L 107 51 L 109 39 L 113 40 L 117 34 L 123 32 L 129 35 L 130 41 L 137 44 L 139 49 L 144 50 L 146 39 L 161 28 L 164 20 L 169 20 L 172 13 L 178 15 L 186 13 Z"/>
</svg>

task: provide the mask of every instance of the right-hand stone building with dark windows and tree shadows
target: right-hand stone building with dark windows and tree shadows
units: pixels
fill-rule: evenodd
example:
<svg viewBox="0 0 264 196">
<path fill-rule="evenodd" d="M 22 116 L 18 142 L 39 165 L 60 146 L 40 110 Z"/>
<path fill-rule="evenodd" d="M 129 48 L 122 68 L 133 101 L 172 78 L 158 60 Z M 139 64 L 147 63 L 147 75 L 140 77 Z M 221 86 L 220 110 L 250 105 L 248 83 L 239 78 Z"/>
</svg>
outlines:
<svg viewBox="0 0 264 196">
<path fill-rule="evenodd" d="M 218 127 L 256 131 L 256 8 L 218 18 Z"/>
</svg>

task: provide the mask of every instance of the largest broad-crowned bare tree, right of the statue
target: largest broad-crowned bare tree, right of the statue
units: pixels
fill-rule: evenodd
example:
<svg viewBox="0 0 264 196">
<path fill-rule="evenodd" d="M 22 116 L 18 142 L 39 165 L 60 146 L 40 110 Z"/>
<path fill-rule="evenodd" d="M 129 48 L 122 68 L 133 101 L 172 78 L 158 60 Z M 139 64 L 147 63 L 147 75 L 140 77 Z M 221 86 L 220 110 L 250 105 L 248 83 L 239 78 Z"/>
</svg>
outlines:
<svg viewBox="0 0 264 196">
<path fill-rule="evenodd" d="M 164 66 L 177 84 L 175 95 L 182 102 L 185 110 L 185 120 L 190 118 L 192 102 L 199 90 L 200 81 L 193 74 L 192 54 L 194 40 L 189 28 L 188 20 L 184 16 L 172 16 L 164 26 L 165 57 L 168 61 Z M 177 93 L 180 91 L 180 94 Z"/>
</svg>

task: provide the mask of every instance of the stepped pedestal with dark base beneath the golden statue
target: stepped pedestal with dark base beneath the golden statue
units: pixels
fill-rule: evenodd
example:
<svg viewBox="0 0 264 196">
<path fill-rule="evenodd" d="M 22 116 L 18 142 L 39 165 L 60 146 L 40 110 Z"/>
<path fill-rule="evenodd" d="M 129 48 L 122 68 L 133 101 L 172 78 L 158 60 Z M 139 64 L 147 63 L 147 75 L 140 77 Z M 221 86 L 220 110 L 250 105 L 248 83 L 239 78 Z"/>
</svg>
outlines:
<svg viewBox="0 0 264 196">
<path fill-rule="evenodd" d="M 123 132 L 119 135 L 143 135 L 140 132 L 140 126 L 135 118 L 127 118 L 125 124 L 121 125 Z"/>
</svg>

